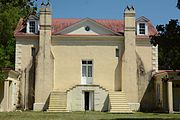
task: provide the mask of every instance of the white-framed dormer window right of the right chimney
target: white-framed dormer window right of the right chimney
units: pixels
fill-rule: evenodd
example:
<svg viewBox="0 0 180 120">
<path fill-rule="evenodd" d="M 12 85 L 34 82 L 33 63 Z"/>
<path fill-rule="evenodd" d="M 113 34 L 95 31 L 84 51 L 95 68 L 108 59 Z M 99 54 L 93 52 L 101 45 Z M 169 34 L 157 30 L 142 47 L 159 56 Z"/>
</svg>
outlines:
<svg viewBox="0 0 180 120">
<path fill-rule="evenodd" d="M 147 25 L 146 23 L 138 23 L 137 25 L 137 34 L 138 35 L 147 35 Z"/>
</svg>

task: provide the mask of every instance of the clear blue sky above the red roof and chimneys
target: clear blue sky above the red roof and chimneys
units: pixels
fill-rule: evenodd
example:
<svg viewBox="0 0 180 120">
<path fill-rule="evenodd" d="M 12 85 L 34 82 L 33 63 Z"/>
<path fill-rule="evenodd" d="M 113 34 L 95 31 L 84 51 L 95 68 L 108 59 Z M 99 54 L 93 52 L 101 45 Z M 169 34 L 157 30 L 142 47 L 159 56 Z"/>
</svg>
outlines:
<svg viewBox="0 0 180 120">
<path fill-rule="evenodd" d="M 38 0 L 40 5 L 42 0 Z M 44 0 L 46 1 L 46 0 Z M 136 18 L 145 16 L 153 25 L 179 19 L 177 0 L 50 0 L 53 18 L 123 19 L 127 5 L 133 5 Z"/>
</svg>

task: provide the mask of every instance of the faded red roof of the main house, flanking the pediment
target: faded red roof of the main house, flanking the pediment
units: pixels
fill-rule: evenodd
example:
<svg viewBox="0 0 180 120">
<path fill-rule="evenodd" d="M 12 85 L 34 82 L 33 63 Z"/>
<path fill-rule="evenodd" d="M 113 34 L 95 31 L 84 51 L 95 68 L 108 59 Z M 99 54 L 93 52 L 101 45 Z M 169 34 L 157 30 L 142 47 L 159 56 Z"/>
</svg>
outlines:
<svg viewBox="0 0 180 120">
<path fill-rule="evenodd" d="M 80 22 L 83 19 L 69 19 L 69 18 L 53 18 L 52 19 L 52 34 L 56 34 L 57 32 L 77 23 Z M 92 19 L 96 21 L 97 23 L 103 25 L 107 29 L 112 30 L 115 33 L 124 33 L 124 20 L 107 20 L 107 19 Z M 147 22 L 148 25 L 148 32 L 149 36 L 156 35 L 157 31 L 154 28 L 154 26 L 151 24 L 150 21 Z M 24 32 L 24 29 L 26 28 L 26 24 L 23 21 L 23 19 L 20 19 L 17 28 L 14 32 L 15 36 L 18 35 L 27 35 L 27 33 Z"/>
</svg>

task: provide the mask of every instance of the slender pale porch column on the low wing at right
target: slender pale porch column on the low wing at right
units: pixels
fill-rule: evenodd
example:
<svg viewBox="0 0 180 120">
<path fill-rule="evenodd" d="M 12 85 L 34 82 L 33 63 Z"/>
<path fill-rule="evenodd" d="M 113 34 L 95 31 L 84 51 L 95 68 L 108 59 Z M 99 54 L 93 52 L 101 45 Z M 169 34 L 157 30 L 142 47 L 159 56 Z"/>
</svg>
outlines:
<svg viewBox="0 0 180 120">
<path fill-rule="evenodd" d="M 173 113 L 173 88 L 172 88 L 172 80 L 168 81 L 168 107 L 169 107 L 169 113 Z"/>
</svg>

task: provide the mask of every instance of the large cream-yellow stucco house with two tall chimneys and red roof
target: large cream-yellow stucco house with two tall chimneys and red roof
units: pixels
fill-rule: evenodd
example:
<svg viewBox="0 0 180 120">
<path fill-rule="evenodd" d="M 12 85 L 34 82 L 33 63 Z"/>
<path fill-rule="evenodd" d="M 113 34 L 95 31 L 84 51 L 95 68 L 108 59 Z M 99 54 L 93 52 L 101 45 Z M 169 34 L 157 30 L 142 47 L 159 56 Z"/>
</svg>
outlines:
<svg viewBox="0 0 180 120">
<path fill-rule="evenodd" d="M 21 104 L 36 111 L 152 110 L 147 91 L 158 72 L 157 31 L 133 7 L 123 20 L 39 17 L 20 19 L 15 30 L 15 70 L 21 72 Z M 150 89 L 151 90 L 151 89 Z M 152 99 L 150 99 L 152 98 Z"/>
</svg>

